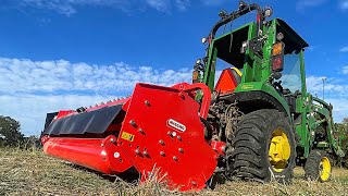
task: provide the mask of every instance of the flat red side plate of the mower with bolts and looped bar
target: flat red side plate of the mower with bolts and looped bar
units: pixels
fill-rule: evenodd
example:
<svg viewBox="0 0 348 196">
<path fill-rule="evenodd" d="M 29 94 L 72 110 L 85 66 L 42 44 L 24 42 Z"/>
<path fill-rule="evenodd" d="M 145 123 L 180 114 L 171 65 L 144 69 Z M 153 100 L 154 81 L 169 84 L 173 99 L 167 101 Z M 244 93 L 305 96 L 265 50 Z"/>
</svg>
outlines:
<svg viewBox="0 0 348 196">
<path fill-rule="evenodd" d="M 135 168 L 141 173 L 151 172 L 156 166 L 163 174 L 166 173 L 164 180 L 173 188 L 181 185 L 181 191 L 201 189 L 216 167 L 215 152 L 204 140 L 199 117 L 208 114 L 210 90 L 199 83 L 175 87 L 137 84 L 122 127 L 122 132 L 134 134 L 135 138 L 130 143 L 119 137 L 119 143 L 123 142 L 122 147 L 133 157 Z M 202 89 L 204 95 L 201 109 L 188 95 L 197 89 Z M 146 106 L 145 100 L 151 106 Z M 167 126 L 170 119 L 185 125 L 186 131 Z M 130 120 L 136 122 L 136 126 L 128 123 Z M 139 155 L 135 152 L 137 149 Z"/>
</svg>

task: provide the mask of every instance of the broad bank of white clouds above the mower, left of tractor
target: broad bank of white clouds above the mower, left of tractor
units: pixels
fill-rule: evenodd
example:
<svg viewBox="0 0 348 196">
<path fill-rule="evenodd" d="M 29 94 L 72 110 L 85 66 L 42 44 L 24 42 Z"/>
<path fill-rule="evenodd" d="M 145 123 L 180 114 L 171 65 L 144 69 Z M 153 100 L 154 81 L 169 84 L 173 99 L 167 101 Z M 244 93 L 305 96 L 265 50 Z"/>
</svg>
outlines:
<svg viewBox="0 0 348 196">
<path fill-rule="evenodd" d="M 138 82 L 163 86 L 189 82 L 191 69 L 0 58 L 0 115 L 18 120 L 26 135 L 37 135 L 48 112 L 130 95 Z"/>
</svg>

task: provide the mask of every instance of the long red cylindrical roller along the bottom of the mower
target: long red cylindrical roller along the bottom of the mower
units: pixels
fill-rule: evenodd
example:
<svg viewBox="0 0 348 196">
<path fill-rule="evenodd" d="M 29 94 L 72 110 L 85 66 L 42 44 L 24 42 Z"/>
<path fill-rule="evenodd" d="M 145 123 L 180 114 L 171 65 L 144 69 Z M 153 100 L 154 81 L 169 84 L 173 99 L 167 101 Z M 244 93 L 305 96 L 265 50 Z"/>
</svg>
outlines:
<svg viewBox="0 0 348 196">
<path fill-rule="evenodd" d="M 116 140 L 114 136 L 103 139 L 49 137 L 44 144 L 44 151 L 105 174 L 117 174 L 133 164 L 125 151 L 111 143 L 111 138 Z M 117 159 L 114 158 L 115 152 L 120 154 Z"/>
</svg>

